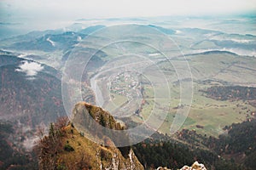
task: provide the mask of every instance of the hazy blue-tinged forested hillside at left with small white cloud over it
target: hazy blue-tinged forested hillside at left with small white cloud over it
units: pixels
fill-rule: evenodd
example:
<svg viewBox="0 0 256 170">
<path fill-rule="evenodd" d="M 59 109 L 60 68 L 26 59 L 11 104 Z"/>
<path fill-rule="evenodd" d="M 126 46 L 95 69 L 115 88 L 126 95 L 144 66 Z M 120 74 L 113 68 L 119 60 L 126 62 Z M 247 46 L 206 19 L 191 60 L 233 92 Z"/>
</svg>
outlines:
<svg viewBox="0 0 256 170">
<path fill-rule="evenodd" d="M 63 116 L 61 81 L 58 71 L 48 65 L 0 55 L 1 119 L 19 121 L 29 127 Z"/>
</svg>

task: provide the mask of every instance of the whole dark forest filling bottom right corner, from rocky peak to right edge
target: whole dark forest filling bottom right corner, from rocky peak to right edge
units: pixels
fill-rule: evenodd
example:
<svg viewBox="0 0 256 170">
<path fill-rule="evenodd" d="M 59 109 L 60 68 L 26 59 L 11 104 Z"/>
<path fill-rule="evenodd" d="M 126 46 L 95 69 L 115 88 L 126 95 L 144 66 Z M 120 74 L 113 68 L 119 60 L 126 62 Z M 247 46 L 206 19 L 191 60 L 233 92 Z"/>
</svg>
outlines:
<svg viewBox="0 0 256 170">
<path fill-rule="evenodd" d="M 227 133 L 218 139 L 187 129 L 177 133 L 178 140 L 158 133 L 157 138 L 152 136 L 133 149 L 146 169 L 159 166 L 177 169 L 200 161 L 208 169 L 253 170 L 256 167 L 256 120 L 232 124 L 225 129 Z"/>
</svg>

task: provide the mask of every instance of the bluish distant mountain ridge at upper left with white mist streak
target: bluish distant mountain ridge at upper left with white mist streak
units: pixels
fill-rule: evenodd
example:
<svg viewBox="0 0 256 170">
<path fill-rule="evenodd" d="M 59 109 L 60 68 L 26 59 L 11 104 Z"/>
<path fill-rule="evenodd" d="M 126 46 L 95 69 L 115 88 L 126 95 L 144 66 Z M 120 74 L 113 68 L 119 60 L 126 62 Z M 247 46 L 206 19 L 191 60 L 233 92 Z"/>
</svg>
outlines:
<svg viewBox="0 0 256 170">
<path fill-rule="evenodd" d="M 0 47 L 15 51 L 38 50 L 53 52 L 61 50 L 66 52 L 90 33 L 104 27 L 106 26 L 89 26 L 78 32 L 63 30 L 32 31 L 25 35 L 3 39 L 0 41 Z"/>
</svg>

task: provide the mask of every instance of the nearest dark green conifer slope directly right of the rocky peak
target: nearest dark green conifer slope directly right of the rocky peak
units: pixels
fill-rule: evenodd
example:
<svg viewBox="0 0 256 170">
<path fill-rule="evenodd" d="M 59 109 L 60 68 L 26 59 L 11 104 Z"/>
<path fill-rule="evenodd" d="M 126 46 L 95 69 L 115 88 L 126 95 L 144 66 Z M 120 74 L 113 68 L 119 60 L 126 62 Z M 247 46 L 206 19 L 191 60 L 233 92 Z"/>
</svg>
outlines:
<svg viewBox="0 0 256 170">
<path fill-rule="evenodd" d="M 202 162 L 207 169 L 245 169 L 232 161 L 224 160 L 215 151 L 191 147 L 189 144 L 173 140 L 163 142 L 147 139 L 143 143 L 134 145 L 133 150 L 145 169 L 160 166 L 177 169 L 194 161 Z"/>
</svg>

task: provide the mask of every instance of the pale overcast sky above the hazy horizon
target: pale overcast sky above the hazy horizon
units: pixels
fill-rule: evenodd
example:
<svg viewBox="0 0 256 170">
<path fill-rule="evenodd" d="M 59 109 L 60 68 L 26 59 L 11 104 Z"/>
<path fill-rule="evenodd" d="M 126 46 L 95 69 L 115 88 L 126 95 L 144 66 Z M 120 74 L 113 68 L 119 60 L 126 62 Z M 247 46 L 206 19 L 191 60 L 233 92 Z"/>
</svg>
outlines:
<svg viewBox="0 0 256 170">
<path fill-rule="evenodd" d="M 232 14 L 256 10 L 256 0 L 1 0 L 1 21 Z"/>
</svg>

